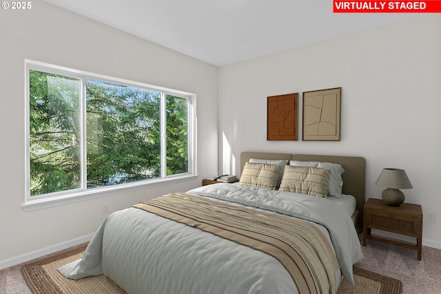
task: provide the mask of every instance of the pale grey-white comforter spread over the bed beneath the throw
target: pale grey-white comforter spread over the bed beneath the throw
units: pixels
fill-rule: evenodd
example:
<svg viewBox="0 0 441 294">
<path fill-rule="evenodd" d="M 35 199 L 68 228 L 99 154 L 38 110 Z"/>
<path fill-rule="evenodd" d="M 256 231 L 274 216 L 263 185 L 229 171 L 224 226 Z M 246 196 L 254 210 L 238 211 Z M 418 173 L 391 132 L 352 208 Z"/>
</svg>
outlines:
<svg viewBox="0 0 441 294">
<path fill-rule="evenodd" d="M 352 264 L 362 258 L 360 242 L 351 218 L 325 198 L 238 184 L 187 193 L 317 223 L 332 240 L 342 274 L 352 281 Z M 298 293 L 292 277 L 270 255 L 135 208 L 107 217 L 83 258 L 59 271 L 72 279 L 104 273 L 130 294 Z"/>
</svg>

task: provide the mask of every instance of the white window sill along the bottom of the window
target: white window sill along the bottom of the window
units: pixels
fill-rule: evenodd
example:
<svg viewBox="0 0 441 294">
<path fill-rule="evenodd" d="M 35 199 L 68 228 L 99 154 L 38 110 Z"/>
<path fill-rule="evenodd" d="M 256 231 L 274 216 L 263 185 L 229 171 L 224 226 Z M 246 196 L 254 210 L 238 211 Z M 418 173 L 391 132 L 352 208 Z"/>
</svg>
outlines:
<svg viewBox="0 0 441 294">
<path fill-rule="evenodd" d="M 121 187 L 103 187 L 91 189 L 89 191 L 81 191 L 78 193 L 72 193 L 64 196 L 39 198 L 37 200 L 27 200 L 25 204 L 21 205 L 24 211 L 34 211 L 39 209 L 46 209 L 50 207 L 57 207 L 64 204 L 70 204 L 75 202 L 81 202 L 86 200 L 92 200 L 96 198 L 102 198 L 112 196 L 121 193 L 127 193 L 132 191 L 139 191 L 152 187 L 160 187 L 165 185 L 174 184 L 177 182 L 187 182 L 188 180 L 194 180 L 198 175 L 178 176 L 160 180 L 148 180 L 145 182 L 133 182 L 127 185 L 121 185 Z"/>
</svg>

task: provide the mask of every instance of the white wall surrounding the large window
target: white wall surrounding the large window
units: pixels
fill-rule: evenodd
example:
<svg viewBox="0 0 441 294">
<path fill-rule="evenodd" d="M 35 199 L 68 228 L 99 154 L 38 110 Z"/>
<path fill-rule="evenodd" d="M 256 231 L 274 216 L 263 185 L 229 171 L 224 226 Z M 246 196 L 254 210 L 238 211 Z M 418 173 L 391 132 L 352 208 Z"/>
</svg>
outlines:
<svg viewBox="0 0 441 294">
<path fill-rule="evenodd" d="M 197 95 L 197 180 L 25 212 L 25 59 Z M 110 211 L 201 185 L 218 171 L 218 67 L 49 3 L 0 11 L 0 265 L 93 233 Z M 4 264 L 4 262 L 3 262 Z M 1 267 L 1 266 L 0 266 Z"/>
</svg>

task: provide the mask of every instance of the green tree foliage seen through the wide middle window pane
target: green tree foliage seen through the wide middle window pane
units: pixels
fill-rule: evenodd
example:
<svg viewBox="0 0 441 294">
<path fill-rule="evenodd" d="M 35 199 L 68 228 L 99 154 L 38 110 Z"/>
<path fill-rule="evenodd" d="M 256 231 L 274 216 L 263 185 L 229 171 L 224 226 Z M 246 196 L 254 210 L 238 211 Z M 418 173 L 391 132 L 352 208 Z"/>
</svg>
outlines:
<svg viewBox="0 0 441 294">
<path fill-rule="evenodd" d="M 88 187 L 161 176 L 161 93 L 88 80 Z"/>
</svg>

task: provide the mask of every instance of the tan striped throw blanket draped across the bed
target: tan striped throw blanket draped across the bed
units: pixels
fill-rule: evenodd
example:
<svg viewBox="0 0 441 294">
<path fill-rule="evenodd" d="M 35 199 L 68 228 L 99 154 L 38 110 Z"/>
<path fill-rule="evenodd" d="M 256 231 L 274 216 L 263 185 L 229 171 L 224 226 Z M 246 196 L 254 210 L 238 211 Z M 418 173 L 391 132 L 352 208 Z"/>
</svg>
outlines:
<svg viewBox="0 0 441 294">
<path fill-rule="evenodd" d="M 263 251 L 291 274 L 299 293 L 336 293 L 336 256 L 314 224 L 186 193 L 170 193 L 134 205 Z"/>
</svg>

